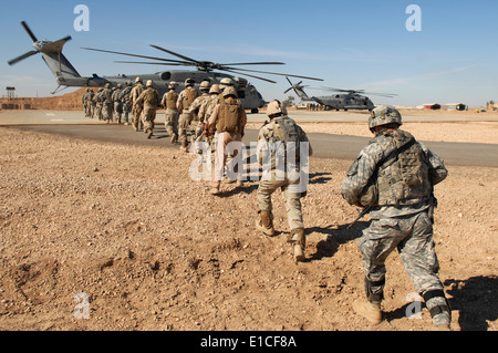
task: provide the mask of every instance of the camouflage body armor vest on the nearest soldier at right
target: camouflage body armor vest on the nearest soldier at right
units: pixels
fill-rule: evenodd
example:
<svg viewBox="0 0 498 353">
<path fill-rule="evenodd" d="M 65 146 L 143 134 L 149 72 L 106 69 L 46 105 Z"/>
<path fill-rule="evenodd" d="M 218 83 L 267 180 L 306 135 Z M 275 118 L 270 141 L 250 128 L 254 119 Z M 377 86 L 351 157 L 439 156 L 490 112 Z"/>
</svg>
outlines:
<svg viewBox="0 0 498 353">
<path fill-rule="evenodd" d="M 377 205 L 415 205 L 428 199 L 432 193 L 428 167 L 414 137 L 394 129 L 375 137 L 374 142 L 378 139 L 386 139 L 392 145 L 392 156 L 378 167 Z"/>
</svg>

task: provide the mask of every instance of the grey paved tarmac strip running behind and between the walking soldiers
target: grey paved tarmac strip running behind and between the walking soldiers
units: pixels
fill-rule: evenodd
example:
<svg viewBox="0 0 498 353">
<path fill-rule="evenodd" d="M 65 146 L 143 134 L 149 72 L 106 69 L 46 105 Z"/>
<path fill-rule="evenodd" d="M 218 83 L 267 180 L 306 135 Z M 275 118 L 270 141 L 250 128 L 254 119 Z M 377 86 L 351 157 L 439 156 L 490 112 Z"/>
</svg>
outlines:
<svg viewBox="0 0 498 353">
<path fill-rule="evenodd" d="M 299 122 L 364 122 L 364 114 L 321 114 L 322 112 L 303 112 L 292 117 Z M 158 146 L 165 148 L 178 148 L 172 145 L 164 128 L 164 115 L 158 115 L 158 123 L 154 136 L 145 137 L 143 132 L 134 132 L 131 126 L 105 124 L 100 121 L 85 118 L 81 112 L 44 112 L 44 111 L 17 111 L 0 114 L 0 126 L 6 128 L 21 128 L 24 131 L 37 131 L 49 134 L 58 134 L 68 137 L 98 141 L 105 143 L 118 143 L 125 145 Z M 416 121 L 417 117 L 409 116 L 405 121 Z M 259 123 L 267 120 L 264 114 L 251 114 L 249 122 Z M 439 118 L 438 118 L 439 120 Z M 455 121 L 455 117 L 445 118 Z M 432 120 L 434 121 L 434 118 Z M 466 120 L 468 121 L 468 120 Z M 354 160 L 360 150 L 369 143 L 370 138 L 332 135 L 309 134 L 313 146 L 314 157 L 339 158 Z M 257 131 L 247 131 L 243 138 L 246 145 L 256 142 Z M 469 144 L 469 143 L 442 143 L 425 142 L 427 146 L 437 153 L 446 165 L 456 166 L 487 166 L 498 167 L 498 145 Z"/>
</svg>

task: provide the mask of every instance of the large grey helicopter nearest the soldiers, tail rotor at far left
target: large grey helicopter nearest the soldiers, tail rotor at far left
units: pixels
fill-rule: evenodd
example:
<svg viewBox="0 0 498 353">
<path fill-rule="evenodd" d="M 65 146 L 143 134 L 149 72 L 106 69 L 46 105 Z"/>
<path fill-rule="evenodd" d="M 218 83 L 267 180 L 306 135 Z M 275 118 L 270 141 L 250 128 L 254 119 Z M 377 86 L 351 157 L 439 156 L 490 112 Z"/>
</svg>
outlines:
<svg viewBox="0 0 498 353">
<path fill-rule="evenodd" d="M 257 79 L 257 80 L 262 80 L 262 81 L 270 82 L 270 83 L 277 83 L 277 82 L 266 79 L 266 77 L 256 76 L 252 73 L 323 81 L 323 80 L 317 79 L 317 77 L 307 77 L 307 76 L 291 75 L 291 74 L 286 74 L 286 73 L 234 68 L 234 66 L 242 66 L 242 65 L 283 65 L 284 63 L 282 63 L 282 62 L 247 62 L 247 63 L 218 64 L 218 63 L 214 63 L 214 62 L 209 62 L 209 61 L 198 61 L 195 59 L 190 59 L 188 56 L 177 54 L 173 51 L 166 50 L 166 49 L 157 46 L 157 45 L 151 45 L 151 46 L 153 46 L 154 49 L 160 50 L 163 52 L 166 52 L 168 54 L 172 54 L 174 56 L 177 56 L 181 60 L 172 60 L 172 59 L 164 59 L 164 58 L 156 58 L 156 56 L 121 53 L 121 52 L 101 50 L 101 49 L 91 49 L 91 48 L 82 48 L 82 49 L 96 51 L 96 52 L 104 52 L 104 53 L 111 53 L 111 54 L 118 54 L 118 55 L 126 55 L 126 56 L 152 60 L 152 62 L 124 62 L 124 61 L 121 61 L 121 63 L 172 65 L 172 66 L 194 66 L 194 68 L 197 68 L 197 71 L 170 70 L 170 71 L 157 72 L 154 74 L 133 74 L 133 75 L 124 75 L 123 74 L 123 75 L 117 75 L 117 76 L 102 76 L 102 77 L 98 76 L 97 74 L 93 74 L 93 76 L 91 76 L 91 77 L 82 77 L 77 73 L 77 71 L 74 69 L 74 66 L 69 62 L 69 60 L 62 54 L 64 44 L 71 40 L 70 35 L 68 35 L 61 40 L 54 41 L 54 42 L 46 41 L 46 40 L 39 41 L 24 21 L 21 22 L 21 25 L 24 28 L 24 30 L 28 32 L 29 37 L 32 39 L 32 41 L 33 41 L 32 46 L 34 48 L 34 50 L 32 50 L 25 54 L 22 54 L 15 59 L 9 61 L 8 63 L 9 63 L 9 65 L 13 65 L 24 59 L 28 59 L 32 55 L 41 53 L 43 56 L 43 60 L 45 61 L 46 65 L 54 74 L 55 80 L 59 84 L 58 89 L 54 92 L 52 92 L 52 94 L 60 91 L 61 86 L 63 86 L 62 90 L 70 87 L 70 86 L 101 87 L 101 86 L 104 86 L 106 83 L 110 83 L 113 86 L 116 86 L 117 84 L 122 84 L 124 86 L 127 82 L 133 82 L 135 80 L 135 77 L 139 76 L 144 81 L 144 83 L 148 80 L 153 80 L 153 82 L 155 84 L 155 89 L 159 92 L 160 95 L 163 95 L 165 92 L 168 91 L 168 85 L 169 85 L 169 82 L 172 82 L 172 81 L 175 81 L 176 83 L 178 83 L 178 90 L 181 91 L 185 87 L 185 81 L 187 79 L 194 80 L 196 82 L 196 85 L 198 86 L 200 84 L 200 82 L 203 82 L 205 80 L 208 80 L 211 84 L 215 84 L 215 83 L 220 83 L 220 81 L 222 79 L 228 77 L 234 81 L 235 86 L 237 89 L 237 93 L 239 95 L 239 98 L 242 102 L 243 107 L 246 110 L 250 110 L 251 113 L 258 113 L 258 108 L 262 107 L 266 103 L 263 97 L 261 96 L 261 94 L 258 92 L 258 90 L 252 84 L 250 84 L 246 79 L 242 79 L 238 75 L 248 76 L 248 77 L 252 77 L 252 79 Z M 229 75 L 226 73 L 214 72 L 215 70 L 235 73 L 235 74 L 237 74 L 237 76 Z"/>
</svg>

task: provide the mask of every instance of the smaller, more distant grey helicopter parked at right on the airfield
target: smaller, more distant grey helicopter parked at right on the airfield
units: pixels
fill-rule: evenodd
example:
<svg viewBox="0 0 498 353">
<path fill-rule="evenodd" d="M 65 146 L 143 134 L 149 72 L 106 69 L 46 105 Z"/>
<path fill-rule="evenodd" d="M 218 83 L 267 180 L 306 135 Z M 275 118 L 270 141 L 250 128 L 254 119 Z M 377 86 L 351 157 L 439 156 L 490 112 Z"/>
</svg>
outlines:
<svg viewBox="0 0 498 353">
<path fill-rule="evenodd" d="M 336 92 L 336 94 L 328 96 L 310 97 L 303 90 L 304 87 L 308 86 L 301 85 L 302 81 L 297 84 L 292 84 L 289 77 L 287 77 L 287 81 L 289 81 L 291 87 L 288 89 L 284 93 L 288 93 L 289 91 L 293 90 L 295 94 L 301 98 L 301 101 L 319 103 L 321 105 L 324 105 L 326 110 L 336 110 L 336 111 L 344 110 L 344 112 L 347 112 L 347 110 L 372 111 L 375 107 L 374 103 L 367 96 L 364 96 L 362 94 L 377 95 L 383 97 L 396 96 L 396 94 L 391 93 L 367 93 L 364 90 L 341 90 L 332 87 L 321 87 L 318 90 Z"/>
</svg>

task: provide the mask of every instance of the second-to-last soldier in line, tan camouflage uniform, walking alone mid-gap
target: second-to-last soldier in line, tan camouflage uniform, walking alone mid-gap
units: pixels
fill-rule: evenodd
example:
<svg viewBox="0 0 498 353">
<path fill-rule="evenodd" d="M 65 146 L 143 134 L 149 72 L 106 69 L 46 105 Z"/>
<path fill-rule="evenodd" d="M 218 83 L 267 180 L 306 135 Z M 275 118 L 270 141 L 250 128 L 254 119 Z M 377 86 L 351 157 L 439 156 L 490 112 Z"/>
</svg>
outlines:
<svg viewBox="0 0 498 353">
<path fill-rule="evenodd" d="M 305 170 L 300 165 L 308 165 L 313 150 L 304 131 L 287 115 L 287 108 L 279 101 L 268 105 L 267 115 L 270 122 L 266 122 L 258 134 L 258 160 L 263 174 L 258 189 L 260 218 L 256 228 L 274 236 L 271 195 L 280 188 L 291 229 L 288 242 L 293 246 L 294 260 L 299 262 L 304 260 L 305 249 L 301 198 L 308 187 Z"/>
</svg>

